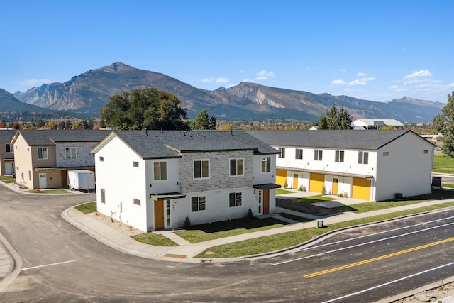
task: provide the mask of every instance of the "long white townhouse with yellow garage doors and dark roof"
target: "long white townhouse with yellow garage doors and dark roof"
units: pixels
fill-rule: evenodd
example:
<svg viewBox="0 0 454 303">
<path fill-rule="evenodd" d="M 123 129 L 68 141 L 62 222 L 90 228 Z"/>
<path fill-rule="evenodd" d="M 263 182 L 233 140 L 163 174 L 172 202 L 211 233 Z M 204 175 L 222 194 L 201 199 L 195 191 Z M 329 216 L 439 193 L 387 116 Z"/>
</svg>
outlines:
<svg viewBox="0 0 454 303">
<path fill-rule="evenodd" d="M 247 131 L 279 151 L 276 182 L 367 201 L 431 192 L 435 145 L 412 131 Z"/>
</svg>

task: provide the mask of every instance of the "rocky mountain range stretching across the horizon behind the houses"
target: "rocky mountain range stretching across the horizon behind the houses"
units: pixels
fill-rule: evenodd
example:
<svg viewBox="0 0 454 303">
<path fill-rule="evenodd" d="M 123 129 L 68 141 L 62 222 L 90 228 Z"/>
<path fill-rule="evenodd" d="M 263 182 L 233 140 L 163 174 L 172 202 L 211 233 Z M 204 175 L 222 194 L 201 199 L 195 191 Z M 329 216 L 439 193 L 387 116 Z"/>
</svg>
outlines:
<svg viewBox="0 0 454 303">
<path fill-rule="evenodd" d="M 402 97 L 379 102 L 331 94 L 312 94 L 256 83 L 241 82 L 234 87 L 220 87 L 214 91 L 199 89 L 178 79 L 148 70 L 116 62 L 96 70 L 89 70 L 72 77 L 64 83 L 43 84 L 13 96 L 1 94 L 2 104 L 14 106 L 25 104 L 55 111 L 99 116 L 109 97 L 138 87 L 156 87 L 175 94 L 182 100 L 181 106 L 188 110 L 189 118 L 201 109 L 207 109 L 218 119 L 266 120 L 296 119 L 317 121 L 333 104 L 348 109 L 353 119 L 397 119 L 399 121 L 431 121 L 440 114 L 445 104 Z M 21 102 L 17 102 L 17 100 Z"/>
</svg>

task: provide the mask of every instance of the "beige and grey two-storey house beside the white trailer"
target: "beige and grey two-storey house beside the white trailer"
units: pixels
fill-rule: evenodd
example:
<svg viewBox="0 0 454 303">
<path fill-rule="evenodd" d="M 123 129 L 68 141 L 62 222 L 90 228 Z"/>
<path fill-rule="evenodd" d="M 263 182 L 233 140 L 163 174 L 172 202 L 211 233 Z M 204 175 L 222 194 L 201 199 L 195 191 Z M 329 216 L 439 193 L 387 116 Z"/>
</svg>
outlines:
<svg viewBox="0 0 454 303">
<path fill-rule="evenodd" d="M 16 182 L 26 188 L 67 187 L 68 170 L 94 171 L 90 152 L 106 131 L 20 130 L 14 145 Z"/>
</svg>

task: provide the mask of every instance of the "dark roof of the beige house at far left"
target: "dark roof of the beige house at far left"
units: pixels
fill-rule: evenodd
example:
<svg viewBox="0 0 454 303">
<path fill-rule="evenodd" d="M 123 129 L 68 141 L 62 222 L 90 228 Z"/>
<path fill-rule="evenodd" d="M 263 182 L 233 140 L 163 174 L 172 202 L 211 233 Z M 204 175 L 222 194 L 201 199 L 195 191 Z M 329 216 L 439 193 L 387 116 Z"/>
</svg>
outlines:
<svg viewBox="0 0 454 303">
<path fill-rule="evenodd" d="M 16 131 L 13 141 L 22 136 L 28 145 L 55 145 L 58 142 L 99 142 L 108 131 L 77 129 L 21 129 Z"/>
</svg>

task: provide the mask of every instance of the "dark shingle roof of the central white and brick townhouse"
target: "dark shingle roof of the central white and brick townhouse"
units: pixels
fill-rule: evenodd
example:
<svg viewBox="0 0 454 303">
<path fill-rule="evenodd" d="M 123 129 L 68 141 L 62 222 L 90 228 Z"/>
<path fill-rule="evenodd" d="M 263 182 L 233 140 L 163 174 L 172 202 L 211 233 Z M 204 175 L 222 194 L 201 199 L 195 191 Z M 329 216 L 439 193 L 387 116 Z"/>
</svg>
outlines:
<svg viewBox="0 0 454 303">
<path fill-rule="evenodd" d="M 93 148 L 118 137 L 141 158 L 180 158 L 181 153 L 253 150 L 255 154 L 275 154 L 277 150 L 244 131 L 112 131 Z"/>
</svg>

